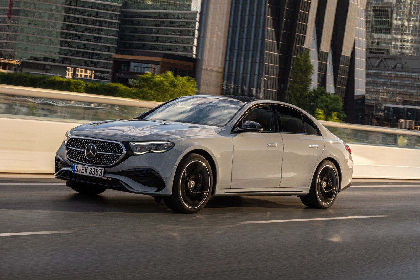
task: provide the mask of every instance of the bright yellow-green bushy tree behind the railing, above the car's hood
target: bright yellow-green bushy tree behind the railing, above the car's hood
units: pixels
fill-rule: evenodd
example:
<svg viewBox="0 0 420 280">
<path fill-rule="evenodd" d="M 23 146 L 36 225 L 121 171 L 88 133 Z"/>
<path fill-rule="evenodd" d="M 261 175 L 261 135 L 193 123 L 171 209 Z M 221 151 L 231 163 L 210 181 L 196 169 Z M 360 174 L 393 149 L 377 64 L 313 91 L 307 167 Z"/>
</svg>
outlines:
<svg viewBox="0 0 420 280">
<path fill-rule="evenodd" d="M 167 101 L 175 97 L 184 95 L 193 95 L 198 92 L 197 83 L 190 77 L 173 76 L 171 71 L 154 75 L 147 72 L 139 75 L 136 80 L 131 80 L 131 86 L 136 91 L 129 92 L 131 98 L 152 100 L 152 101 Z"/>
</svg>

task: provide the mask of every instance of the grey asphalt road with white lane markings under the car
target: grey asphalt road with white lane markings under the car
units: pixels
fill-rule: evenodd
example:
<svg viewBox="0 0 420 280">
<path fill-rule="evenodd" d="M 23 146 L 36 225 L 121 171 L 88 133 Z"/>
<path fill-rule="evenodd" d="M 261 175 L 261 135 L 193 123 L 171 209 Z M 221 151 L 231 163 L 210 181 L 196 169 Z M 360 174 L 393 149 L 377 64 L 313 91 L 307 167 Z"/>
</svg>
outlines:
<svg viewBox="0 0 420 280">
<path fill-rule="evenodd" d="M 213 197 L 193 215 L 63 183 L 0 178 L 0 280 L 420 279 L 420 181 L 357 180 L 326 210 Z"/>
</svg>

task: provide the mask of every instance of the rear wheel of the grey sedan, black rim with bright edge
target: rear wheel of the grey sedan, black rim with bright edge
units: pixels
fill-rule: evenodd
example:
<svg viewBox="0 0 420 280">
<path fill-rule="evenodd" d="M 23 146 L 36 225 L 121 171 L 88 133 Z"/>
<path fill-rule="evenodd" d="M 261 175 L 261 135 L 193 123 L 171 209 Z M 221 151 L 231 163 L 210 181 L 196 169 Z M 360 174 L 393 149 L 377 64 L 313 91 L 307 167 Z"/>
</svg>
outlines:
<svg viewBox="0 0 420 280">
<path fill-rule="evenodd" d="M 339 190 L 339 175 L 335 165 L 324 160 L 318 166 L 312 179 L 309 194 L 300 196 L 307 207 L 327 209 L 333 205 Z"/>
</svg>

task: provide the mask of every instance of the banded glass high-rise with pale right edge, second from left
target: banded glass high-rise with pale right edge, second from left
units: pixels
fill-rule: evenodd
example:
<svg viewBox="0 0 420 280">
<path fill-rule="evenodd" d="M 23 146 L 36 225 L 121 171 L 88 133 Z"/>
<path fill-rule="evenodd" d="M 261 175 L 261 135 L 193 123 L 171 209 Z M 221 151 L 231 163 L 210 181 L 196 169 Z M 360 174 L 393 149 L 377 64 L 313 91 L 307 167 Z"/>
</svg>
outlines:
<svg viewBox="0 0 420 280">
<path fill-rule="evenodd" d="M 195 57 L 200 0 L 126 0 L 118 53 L 136 50 Z"/>
</svg>

